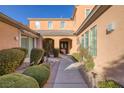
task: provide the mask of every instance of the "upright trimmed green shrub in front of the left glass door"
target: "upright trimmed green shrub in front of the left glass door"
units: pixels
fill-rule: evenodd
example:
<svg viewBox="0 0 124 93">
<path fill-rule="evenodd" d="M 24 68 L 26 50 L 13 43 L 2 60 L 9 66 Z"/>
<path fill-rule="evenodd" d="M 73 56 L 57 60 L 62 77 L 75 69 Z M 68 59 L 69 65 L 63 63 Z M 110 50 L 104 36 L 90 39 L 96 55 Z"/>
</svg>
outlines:
<svg viewBox="0 0 124 93">
<path fill-rule="evenodd" d="M 37 65 L 41 62 L 44 56 L 44 50 L 43 49 L 38 49 L 38 48 L 33 48 L 31 50 L 31 55 L 30 55 L 30 63 L 31 65 Z"/>
</svg>

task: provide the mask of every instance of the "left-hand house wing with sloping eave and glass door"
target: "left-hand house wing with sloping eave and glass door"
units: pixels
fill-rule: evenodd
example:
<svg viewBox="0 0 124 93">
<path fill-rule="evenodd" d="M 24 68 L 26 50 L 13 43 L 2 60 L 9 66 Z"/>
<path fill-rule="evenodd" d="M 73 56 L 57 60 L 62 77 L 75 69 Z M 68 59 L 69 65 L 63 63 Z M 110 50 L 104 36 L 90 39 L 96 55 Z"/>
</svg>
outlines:
<svg viewBox="0 0 124 93">
<path fill-rule="evenodd" d="M 23 47 L 29 50 L 42 48 L 42 36 L 20 22 L 0 13 L 0 50 Z"/>
</svg>

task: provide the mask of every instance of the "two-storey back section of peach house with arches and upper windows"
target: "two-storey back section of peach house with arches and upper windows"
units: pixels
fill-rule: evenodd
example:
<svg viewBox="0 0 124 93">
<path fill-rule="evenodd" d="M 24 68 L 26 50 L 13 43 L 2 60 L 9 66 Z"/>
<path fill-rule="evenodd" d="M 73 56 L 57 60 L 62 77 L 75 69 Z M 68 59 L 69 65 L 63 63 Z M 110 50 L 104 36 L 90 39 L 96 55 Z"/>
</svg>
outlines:
<svg viewBox="0 0 124 93">
<path fill-rule="evenodd" d="M 52 48 L 65 49 L 65 54 L 72 54 L 78 49 L 78 38 L 74 33 L 92 8 L 92 5 L 77 5 L 71 18 L 28 18 L 29 27 L 43 35 L 44 47 L 50 41 Z"/>
</svg>

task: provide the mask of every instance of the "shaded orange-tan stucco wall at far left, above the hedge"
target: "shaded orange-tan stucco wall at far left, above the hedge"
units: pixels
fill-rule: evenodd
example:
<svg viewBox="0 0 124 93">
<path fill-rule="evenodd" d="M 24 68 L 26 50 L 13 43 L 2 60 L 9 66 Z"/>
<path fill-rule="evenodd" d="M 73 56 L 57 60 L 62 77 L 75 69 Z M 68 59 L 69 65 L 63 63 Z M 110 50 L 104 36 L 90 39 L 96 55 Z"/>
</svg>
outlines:
<svg viewBox="0 0 124 93">
<path fill-rule="evenodd" d="M 0 50 L 19 47 L 19 30 L 6 23 L 0 22 Z"/>
</svg>

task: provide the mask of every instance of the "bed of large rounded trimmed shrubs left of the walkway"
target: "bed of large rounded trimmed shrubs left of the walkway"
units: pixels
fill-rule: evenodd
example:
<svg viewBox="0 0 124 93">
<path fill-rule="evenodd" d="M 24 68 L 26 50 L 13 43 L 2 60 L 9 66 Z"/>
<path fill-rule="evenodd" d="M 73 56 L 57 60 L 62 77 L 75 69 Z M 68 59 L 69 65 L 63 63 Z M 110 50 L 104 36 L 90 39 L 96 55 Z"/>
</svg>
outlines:
<svg viewBox="0 0 124 93">
<path fill-rule="evenodd" d="M 44 50 L 32 49 L 30 59 L 31 63 L 34 62 L 31 64 L 33 66 L 24 63 L 27 53 L 24 48 L 0 51 L 1 88 L 42 88 L 47 82 L 50 76 L 50 65 L 41 62 Z"/>
</svg>

